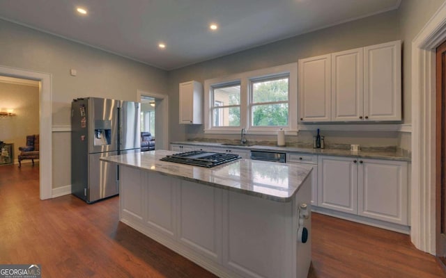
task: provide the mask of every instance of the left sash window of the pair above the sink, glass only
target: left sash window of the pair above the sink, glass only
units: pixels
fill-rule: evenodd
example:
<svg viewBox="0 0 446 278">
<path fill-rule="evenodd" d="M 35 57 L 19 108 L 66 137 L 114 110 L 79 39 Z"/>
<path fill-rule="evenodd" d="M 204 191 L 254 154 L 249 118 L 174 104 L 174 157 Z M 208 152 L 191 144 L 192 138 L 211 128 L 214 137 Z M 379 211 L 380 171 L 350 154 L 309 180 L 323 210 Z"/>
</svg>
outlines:
<svg viewBox="0 0 446 278">
<path fill-rule="evenodd" d="M 213 87 L 212 99 L 213 126 L 240 126 L 240 84 Z"/>
</svg>

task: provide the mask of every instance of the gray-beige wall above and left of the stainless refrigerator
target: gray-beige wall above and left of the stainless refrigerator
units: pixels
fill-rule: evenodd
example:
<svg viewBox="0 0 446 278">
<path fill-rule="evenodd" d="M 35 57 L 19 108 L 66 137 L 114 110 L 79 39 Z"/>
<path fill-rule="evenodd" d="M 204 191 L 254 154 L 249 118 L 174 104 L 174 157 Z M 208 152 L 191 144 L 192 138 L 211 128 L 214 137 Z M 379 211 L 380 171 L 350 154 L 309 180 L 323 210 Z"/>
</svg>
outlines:
<svg viewBox="0 0 446 278">
<path fill-rule="evenodd" d="M 136 101 L 137 90 L 165 94 L 167 72 L 0 20 L 0 65 L 52 74 L 53 126 L 70 126 L 76 97 Z M 70 69 L 77 76 L 70 76 Z M 54 132 L 53 188 L 70 185 L 70 132 Z M 40 163 L 45 163 L 41 161 Z"/>
</svg>

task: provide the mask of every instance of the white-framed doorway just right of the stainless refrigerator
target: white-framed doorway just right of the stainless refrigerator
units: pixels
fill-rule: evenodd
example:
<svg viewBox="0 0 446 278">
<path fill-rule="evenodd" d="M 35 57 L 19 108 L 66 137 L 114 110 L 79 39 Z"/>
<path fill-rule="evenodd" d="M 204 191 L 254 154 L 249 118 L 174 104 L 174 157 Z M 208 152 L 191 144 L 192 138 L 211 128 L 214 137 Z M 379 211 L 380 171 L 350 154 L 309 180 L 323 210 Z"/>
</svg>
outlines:
<svg viewBox="0 0 446 278">
<path fill-rule="evenodd" d="M 152 133 L 155 149 L 168 149 L 169 97 L 138 90 L 137 99 L 141 102 L 141 131 Z"/>
</svg>

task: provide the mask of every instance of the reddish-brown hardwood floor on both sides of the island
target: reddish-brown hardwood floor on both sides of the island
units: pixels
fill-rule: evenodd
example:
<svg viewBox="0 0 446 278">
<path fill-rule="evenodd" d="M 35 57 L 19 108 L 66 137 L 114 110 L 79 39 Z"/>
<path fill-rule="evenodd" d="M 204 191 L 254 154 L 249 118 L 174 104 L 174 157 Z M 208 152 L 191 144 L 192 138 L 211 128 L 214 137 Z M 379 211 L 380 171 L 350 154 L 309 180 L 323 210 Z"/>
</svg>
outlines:
<svg viewBox="0 0 446 278">
<path fill-rule="evenodd" d="M 42 277 L 215 277 L 118 222 L 118 197 L 40 201 L 38 163 L 0 166 L 0 264 Z M 313 213 L 309 277 L 446 277 L 408 236 Z"/>
</svg>

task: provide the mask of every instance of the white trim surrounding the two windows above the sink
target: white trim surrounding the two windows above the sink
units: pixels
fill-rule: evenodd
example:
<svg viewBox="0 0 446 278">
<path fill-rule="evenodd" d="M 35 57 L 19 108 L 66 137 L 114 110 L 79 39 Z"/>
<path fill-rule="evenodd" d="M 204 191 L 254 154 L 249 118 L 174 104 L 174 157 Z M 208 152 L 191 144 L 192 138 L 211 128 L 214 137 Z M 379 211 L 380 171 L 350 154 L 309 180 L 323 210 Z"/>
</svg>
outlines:
<svg viewBox="0 0 446 278">
<path fill-rule="evenodd" d="M 248 99 L 251 80 L 280 74 L 289 74 L 289 125 L 285 127 L 249 126 Z M 240 82 L 240 126 L 212 126 L 212 115 L 210 115 L 212 86 L 234 82 Z M 250 134 L 271 135 L 280 128 L 283 128 L 287 135 L 297 135 L 298 133 L 298 63 L 268 67 L 266 69 L 242 72 L 204 81 L 204 133 L 238 134 L 240 129 L 246 129 L 247 133 Z"/>
</svg>

